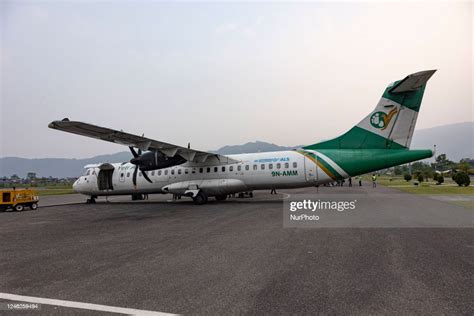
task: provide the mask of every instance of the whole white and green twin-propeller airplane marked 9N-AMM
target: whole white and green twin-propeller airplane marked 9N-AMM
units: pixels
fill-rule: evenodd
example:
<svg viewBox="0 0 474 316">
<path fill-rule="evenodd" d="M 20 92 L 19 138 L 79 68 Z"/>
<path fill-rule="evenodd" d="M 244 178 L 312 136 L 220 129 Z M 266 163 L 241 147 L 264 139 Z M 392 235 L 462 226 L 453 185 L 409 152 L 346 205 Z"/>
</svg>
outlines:
<svg viewBox="0 0 474 316">
<path fill-rule="evenodd" d="M 173 193 L 204 204 L 230 193 L 316 186 L 424 158 L 431 150 L 410 150 L 426 82 L 435 70 L 390 84 L 375 109 L 345 134 L 293 151 L 223 156 L 143 136 L 63 119 L 50 128 L 129 146 L 130 162 L 85 166 L 73 185 L 97 196 Z M 135 150 L 138 149 L 138 151 Z"/>
</svg>

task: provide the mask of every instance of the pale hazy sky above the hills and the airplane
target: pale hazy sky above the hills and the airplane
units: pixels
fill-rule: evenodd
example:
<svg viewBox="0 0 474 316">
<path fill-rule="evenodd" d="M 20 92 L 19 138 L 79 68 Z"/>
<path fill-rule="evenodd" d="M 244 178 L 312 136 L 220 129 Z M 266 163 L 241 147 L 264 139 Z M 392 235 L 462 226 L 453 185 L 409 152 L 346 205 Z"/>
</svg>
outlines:
<svg viewBox="0 0 474 316">
<path fill-rule="evenodd" d="M 473 121 L 473 3 L 0 1 L 0 157 L 124 146 L 71 120 L 195 149 L 312 144 L 385 87 L 438 69 L 417 129 Z"/>
</svg>

